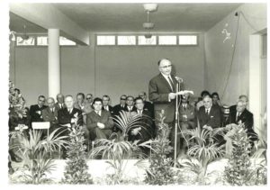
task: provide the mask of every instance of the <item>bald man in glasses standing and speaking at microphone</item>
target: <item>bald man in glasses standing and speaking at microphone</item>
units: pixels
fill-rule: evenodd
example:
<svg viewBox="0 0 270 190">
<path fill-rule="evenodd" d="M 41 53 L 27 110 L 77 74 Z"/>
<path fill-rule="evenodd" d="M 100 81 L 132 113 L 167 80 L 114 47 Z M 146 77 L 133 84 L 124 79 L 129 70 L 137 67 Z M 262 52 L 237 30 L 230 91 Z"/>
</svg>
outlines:
<svg viewBox="0 0 270 190">
<path fill-rule="evenodd" d="M 169 59 L 160 59 L 157 63 L 160 73 L 153 77 L 148 86 L 149 100 L 154 104 L 156 126 L 160 122 L 159 113 L 164 110 L 166 122 L 172 130 L 169 140 L 172 146 L 175 145 L 175 86 L 177 81 L 182 80 L 179 77 L 171 75 L 172 63 Z M 177 138 L 177 141 L 179 138 Z M 178 142 L 177 142 L 178 144 Z M 179 148 L 179 146 L 177 146 Z"/>
</svg>

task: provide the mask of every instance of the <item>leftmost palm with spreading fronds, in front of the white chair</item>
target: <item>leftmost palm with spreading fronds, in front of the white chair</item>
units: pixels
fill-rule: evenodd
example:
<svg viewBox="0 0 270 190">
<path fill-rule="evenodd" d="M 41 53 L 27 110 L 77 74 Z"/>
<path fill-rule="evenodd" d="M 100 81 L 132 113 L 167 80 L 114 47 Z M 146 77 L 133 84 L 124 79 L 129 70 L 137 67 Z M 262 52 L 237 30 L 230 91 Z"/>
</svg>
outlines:
<svg viewBox="0 0 270 190">
<path fill-rule="evenodd" d="M 17 135 L 18 140 L 10 149 L 16 149 L 18 156 L 23 160 L 23 176 L 26 183 L 40 184 L 48 182 L 46 178 L 55 165 L 50 154 L 67 144 L 67 136 L 60 136 L 59 129 L 52 131 L 47 139 L 41 139 L 41 131 L 29 131 L 27 134 Z"/>
</svg>

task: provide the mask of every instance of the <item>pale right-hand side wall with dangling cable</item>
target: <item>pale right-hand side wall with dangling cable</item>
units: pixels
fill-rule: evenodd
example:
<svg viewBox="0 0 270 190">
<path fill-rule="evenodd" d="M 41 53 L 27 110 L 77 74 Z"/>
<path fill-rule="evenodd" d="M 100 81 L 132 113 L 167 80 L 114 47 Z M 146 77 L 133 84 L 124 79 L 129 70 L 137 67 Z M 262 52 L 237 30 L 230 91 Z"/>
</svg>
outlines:
<svg viewBox="0 0 270 190">
<path fill-rule="evenodd" d="M 242 14 L 238 15 L 238 22 L 236 12 L 242 12 L 252 27 L 248 25 Z M 211 92 L 217 91 L 223 104 L 235 104 L 238 95 L 248 95 L 249 35 L 265 29 L 266 18 L 266 4 L 241 5 L 235 12 L 205 32 L 205 86 Z M 237 23 L 238 37 L 234 44 Z M 230 33 L 230 39 L 225 42 L 223 42 L 225 39 L 223 29 Z M 236 50 L 229 75 L 234 46 Z M 224 91 L 228 76 L 228 84 Z"/>
</svg>

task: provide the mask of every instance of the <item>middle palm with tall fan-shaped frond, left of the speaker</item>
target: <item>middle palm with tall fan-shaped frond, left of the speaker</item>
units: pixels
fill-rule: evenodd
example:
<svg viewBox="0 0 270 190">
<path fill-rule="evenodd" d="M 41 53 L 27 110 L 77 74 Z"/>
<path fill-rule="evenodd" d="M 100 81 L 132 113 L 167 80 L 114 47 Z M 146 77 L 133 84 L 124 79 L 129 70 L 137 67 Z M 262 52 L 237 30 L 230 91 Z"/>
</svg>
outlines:
<svg viewBox="0 0 270 190">
<path fill-rule="evenodd" d="M 114 174 L 110 176 L 113 184 L 120 184 L 122 181 L 123 171 L 127 165 L 124 159 L 129 158 L 145 158 L 146 155 L 141 151 L 142 148 L 150 149 L 150 142 L 139 142 L 135 140 L 133 142 L 128 141 L 128 134 L 131 130 L 141 127 L 139 122 L 139 114 L 121 112 L 120 115 L 114 118 L 116 127 L 121 130 L 121 133 L 112 133 L 109 140 L 100 139 L 95 140 L 95 147 L 90 152 L 90 158 L 94 158 L 97 155 L 102 155 L 102 158 L 111 159 L 107 160 L 113 169 Z M 136 165 L 136 163 L 135 163 Z"/>
</svg>

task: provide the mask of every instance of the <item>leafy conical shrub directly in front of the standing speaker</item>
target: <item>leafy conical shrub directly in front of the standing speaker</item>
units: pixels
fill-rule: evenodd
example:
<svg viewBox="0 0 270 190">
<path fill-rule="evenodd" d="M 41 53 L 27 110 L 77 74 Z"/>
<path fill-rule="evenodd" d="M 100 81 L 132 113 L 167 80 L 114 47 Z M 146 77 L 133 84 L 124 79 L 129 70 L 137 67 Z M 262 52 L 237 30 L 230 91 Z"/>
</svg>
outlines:
<svg viewBox="0 0 270 190">
<path fill-rule="evenodd" d="M 171 167 L 173 160 L 167 157 L 173 150 L 170 146 L 170 140 L 167 139 L 169 127 L 164 122 L 165 117 L 163 113 L 160 113 L 160 118 L 157 138 L 151 143 L 153 153 L 145 178 L 145 182 L 149 185 L 169 185 L 175 183 L 176 173 Z"/>
</svg>

